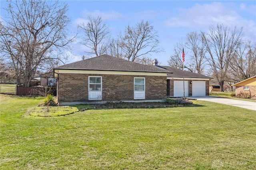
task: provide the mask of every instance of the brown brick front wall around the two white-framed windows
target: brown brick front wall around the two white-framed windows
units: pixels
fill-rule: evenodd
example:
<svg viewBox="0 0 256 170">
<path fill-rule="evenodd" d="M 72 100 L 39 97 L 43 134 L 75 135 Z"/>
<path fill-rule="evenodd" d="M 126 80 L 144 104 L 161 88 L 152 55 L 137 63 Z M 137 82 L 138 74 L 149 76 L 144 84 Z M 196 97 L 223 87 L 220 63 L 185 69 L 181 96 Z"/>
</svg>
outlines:
<svg viewBox="0 0 256 170">
<path fill-rule="evenodd" d="M 60 73 L 59 103 L 88 101 L 88 76 L 102 76 L 102 101 L 113 97 L 115 100 L 134 100 L 134 77 L 145 77 L 146 96 L 143 100 L 166 98 L 166 76 Z M 110 96 L 109 92 L 114 95 Z"/>
</svg>

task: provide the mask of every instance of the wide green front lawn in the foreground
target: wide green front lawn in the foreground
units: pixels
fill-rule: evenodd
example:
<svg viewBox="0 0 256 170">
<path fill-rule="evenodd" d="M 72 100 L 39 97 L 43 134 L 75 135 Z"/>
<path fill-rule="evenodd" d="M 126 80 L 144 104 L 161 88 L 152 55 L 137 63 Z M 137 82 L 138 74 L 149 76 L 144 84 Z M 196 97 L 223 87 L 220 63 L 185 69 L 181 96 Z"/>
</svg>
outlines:
<svg viewBox="0 0 256 170">
<path fill-rule="evenodd" d="M 193 101 L 24 117 L 42 97 L 0 97 L 0 169 L 256 169 L 256 113 L 248 109 Z"/>
</svg>

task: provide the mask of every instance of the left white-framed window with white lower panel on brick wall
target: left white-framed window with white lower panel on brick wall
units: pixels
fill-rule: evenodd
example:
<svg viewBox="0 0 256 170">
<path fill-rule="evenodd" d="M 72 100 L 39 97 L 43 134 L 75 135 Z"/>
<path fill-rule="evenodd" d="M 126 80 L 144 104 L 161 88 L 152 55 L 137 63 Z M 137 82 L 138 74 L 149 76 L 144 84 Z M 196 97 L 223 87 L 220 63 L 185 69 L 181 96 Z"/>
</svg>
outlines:
<svg viewBox="0 0 256 170">
<path fill-rule="evenodd" d="M 102 100 L 102 77 L 89 76 L 88 100 Z"/>
</svg>

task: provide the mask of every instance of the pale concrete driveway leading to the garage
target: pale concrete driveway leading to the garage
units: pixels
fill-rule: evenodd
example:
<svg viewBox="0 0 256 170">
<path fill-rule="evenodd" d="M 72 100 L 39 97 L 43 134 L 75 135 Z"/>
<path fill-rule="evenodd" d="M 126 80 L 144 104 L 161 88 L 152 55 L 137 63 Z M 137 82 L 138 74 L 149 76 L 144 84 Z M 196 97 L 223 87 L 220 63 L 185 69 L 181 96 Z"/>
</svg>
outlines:
<svg viewBox="0 0 256 170">
<path fill-rule="evenodd" d="M 232 105 L 236 107 L 242 107 L 245 109 L 250 109 L 256 111 L 256 103 L 251 101 L 242 101 L 242 100 L 234 100 L 234 99 L 227 99 L 227 98 L 221 98 L 221 97 L 191 97 L 192 99 L 197 100 L 204 100 L 204 101 L 211 101 L 215 103 L 222 103 L 225 105 Z"/>
</svg>

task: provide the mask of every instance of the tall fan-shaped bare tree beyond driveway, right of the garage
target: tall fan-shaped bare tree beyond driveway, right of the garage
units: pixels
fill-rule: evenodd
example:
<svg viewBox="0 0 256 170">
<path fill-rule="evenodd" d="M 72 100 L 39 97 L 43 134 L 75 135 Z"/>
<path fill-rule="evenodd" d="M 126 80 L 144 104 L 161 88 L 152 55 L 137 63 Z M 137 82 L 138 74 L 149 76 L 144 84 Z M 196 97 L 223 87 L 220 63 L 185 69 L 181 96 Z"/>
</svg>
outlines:
<svg viewBox="0 0 256 170">
<path fill-rule="evenodd" d="M 228 28 L 223 24 L 210 26 L 209 32 L 203 33 L 203 40 L 209 54 L 207 60 L 216 75 L 220 91 L 224 91 L 224 81 L 227 76 L 229 63 L 242 42 L 242 29 Z"/>
</svg>

